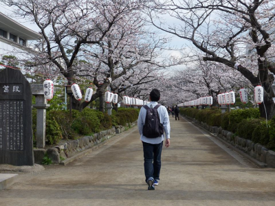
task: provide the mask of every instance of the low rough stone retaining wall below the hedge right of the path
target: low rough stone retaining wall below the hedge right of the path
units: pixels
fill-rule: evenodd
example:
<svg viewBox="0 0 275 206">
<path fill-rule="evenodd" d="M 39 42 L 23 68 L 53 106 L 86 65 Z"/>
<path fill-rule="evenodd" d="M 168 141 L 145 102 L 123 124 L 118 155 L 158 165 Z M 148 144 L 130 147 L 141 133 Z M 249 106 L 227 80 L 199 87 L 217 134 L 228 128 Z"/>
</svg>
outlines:
<svg viewBox="0 0 275 206">
<path fill-rule="evenodd" d="M 186 116 L 185 116 L 186 117 Z M 261 144 L 254 144 L 253 141 L 249 139 L 243 139 L 234 135 L 233 133 L 229 132 L 228 130 L 223 130 L 221 127 L 217 126 L 209 126 L 205 122 L 198 122 L 197 119 L 192 119 L 187 117 L 188 119 L 192 120 L 196 124 L 199 124 L 206 130 L 209 130 L 213 135 L 227 141 L 229 144 L 238 148 L 239 150 L 245 152 L 250 157 L 265 163 L 269 168 L 275 168 L 275 152 L 272 150 L 268 150 Z"/>
</svg>

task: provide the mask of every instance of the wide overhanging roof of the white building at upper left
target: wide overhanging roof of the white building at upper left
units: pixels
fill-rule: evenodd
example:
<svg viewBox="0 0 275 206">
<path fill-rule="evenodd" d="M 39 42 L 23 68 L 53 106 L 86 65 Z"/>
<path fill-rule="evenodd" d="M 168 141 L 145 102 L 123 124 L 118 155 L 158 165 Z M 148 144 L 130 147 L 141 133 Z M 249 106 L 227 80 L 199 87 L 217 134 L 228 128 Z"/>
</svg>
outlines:
<svg viewBox="0 0 275 206">
<path fill-rule="evenodd" d="M 42 38 L 41 34 L 30 30 L 28 27 L 17 23 L 10 17 L 0 12 L 0 29 L 10 32 L 16 36 L 20 36 L 25 40 L 37 40 Z"/>
</svg>

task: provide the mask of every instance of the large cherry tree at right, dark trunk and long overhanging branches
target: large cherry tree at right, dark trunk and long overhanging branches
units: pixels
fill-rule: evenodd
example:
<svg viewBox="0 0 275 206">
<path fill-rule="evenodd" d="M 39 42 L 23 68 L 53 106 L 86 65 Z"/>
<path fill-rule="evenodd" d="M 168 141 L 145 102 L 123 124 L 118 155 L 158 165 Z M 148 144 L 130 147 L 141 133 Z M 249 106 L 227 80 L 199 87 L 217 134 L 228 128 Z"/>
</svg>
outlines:
<svg viewBox="0 0 275 206">
<path fill-rule="evenodd" d="M 268 0 L 156 0 L 148 13 L 157 28 L 185 39 L 193 49 L 203 52 L 198 60 L 219 62 L 225 69 L 239 71 L 254 87 L 261 84 L 261 116 L 267 113 L 270 119 L 275 115 L 274 9 L 274 1 Z M 161 18 L 164 13 L 175 23 L 166 23 Z M 195 58 L 192 51 L 186 55 L 189 57 Z"/>
</svg>

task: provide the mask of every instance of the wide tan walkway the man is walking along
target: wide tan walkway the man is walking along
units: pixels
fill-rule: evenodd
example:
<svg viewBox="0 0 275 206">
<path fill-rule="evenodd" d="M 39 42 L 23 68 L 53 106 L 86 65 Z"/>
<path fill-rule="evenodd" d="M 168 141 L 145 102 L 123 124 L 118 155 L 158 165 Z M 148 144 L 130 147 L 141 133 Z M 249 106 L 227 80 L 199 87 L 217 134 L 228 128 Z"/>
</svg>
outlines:
<svg viewBox="0 0 275 206">
<path fill-rule="evenodd" d="M 256 168 L 227 148 L 229 154 L 186 119 L 170 122 L 155 191 L 144 183 L 135 126 L 67 166 L 19 174 L 0 191 L 0 205 L 275 205 L 274 169 Z"/>
</svg>

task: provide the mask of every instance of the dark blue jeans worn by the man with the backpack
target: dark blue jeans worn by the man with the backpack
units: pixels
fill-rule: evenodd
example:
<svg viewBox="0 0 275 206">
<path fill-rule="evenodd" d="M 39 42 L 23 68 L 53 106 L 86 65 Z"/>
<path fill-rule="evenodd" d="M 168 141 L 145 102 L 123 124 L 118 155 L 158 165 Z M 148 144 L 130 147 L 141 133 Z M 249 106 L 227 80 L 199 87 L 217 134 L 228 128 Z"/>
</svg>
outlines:
<svg viewBox="0 0 275 206">
<path fill-rule="evenodd" d="M 159 180 L 159 172 L 162 166 L 162 144 L 149 144 L 142 141 L 143 155 L 144 155 L 144 173 L 145 181 L 147 182 L 150 177 Z"/>
</svg>

